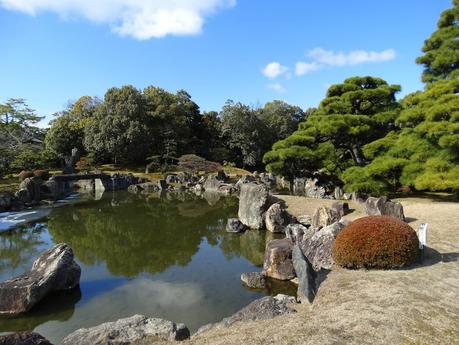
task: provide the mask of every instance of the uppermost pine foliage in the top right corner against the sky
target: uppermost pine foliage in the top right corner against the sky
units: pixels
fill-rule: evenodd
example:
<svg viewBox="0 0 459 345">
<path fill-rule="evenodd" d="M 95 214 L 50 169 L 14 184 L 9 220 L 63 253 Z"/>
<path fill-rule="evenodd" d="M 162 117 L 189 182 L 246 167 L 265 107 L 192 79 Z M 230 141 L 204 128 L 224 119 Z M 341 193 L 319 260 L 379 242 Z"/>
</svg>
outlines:
<svg viewBox="0 0 459 345">
<path fill-rule="evenodd" d="M 424 65 L 422 81 L 449 79 L 459 65 L 459 1 L 441 14 L 435 31 L 422 47 L 424 55 L 416 62 Z"/>
</svg>

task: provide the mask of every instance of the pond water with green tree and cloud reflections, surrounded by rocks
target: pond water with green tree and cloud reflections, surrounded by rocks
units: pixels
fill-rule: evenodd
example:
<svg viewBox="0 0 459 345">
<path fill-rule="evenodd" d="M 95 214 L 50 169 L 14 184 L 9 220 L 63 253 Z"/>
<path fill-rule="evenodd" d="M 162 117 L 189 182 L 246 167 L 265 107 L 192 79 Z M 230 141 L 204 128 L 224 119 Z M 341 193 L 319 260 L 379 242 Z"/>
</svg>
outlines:
<svg viewBox="0 0 459 345">
<path fill-rule="evenodd" d="M 78 328 L 134 314 L 194 331 L 263 295 L 291 293 L 288 284 L 255 291 L 241 283 L 242 272 L 261 269 L 272 235 L 225 232 L 236 213 L 235 198 L 108 193 L 0 233 L 0 280 L 27 271 L 61 242 L 82 268 L 79 289 L 51 295 L 20 317 L 0 318 L 0 332 L 35 330 L 58 344 Z"/>
</svg>

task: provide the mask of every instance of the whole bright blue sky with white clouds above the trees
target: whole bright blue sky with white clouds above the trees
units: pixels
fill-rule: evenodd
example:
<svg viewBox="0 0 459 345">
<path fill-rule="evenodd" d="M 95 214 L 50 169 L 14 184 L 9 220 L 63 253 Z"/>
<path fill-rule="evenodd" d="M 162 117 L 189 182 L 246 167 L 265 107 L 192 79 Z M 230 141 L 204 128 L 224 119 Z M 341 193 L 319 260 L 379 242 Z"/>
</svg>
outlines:
<svg viewBox="0 0 459 345">
<path fill-rule="evenodd" d="M 0 0 L 0 102 L 40 115 L 132 84 L 317 106 L 354 75 L 422 88 L 414 63 L 450 0 Z"/>
</svg>

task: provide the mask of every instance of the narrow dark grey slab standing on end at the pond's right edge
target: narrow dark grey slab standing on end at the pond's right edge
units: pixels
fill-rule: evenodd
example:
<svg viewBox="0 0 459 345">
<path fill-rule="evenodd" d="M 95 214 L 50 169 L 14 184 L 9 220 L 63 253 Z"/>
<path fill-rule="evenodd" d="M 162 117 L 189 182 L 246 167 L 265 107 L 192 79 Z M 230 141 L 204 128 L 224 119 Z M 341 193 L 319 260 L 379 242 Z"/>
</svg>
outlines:
<svg viewBox="0 0 459 345">
<path fill-rule="evenodd" d="M 298 278 L 297 298 L 301 302 L 312 302 L 314 299 L 314 270 L 298 245 L 293 246 L 292 261 Z"/>
</svg>

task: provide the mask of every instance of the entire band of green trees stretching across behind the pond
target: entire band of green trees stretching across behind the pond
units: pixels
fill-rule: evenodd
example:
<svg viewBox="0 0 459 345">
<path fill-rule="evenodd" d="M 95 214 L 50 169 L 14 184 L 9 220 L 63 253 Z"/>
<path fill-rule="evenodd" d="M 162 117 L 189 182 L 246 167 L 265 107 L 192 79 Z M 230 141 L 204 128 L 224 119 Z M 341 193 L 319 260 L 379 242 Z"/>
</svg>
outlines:
<svg viewBox="0 0 459 345">
<path fill-rule="evenodd" d="M 188 165 L 265 164 L 290 181 L 315 177 L 350 192 L 459 193 L 458 20 L 454 0 L 416 60 L 424 90 L 401 100 L 399 85 L 364 76 L 332 85 L 307 111 L 283 101 L 251 107 L 228 100 L 220 112 L 201 112 L 184 90 L 128 85 L 69 104 L 46 135 L 24 100 L 9 100 L 0 105 L 0 173 L 49 165 L 77 147 L 96 164 L 151 171 L 184 156 Z"/>
</svg>

